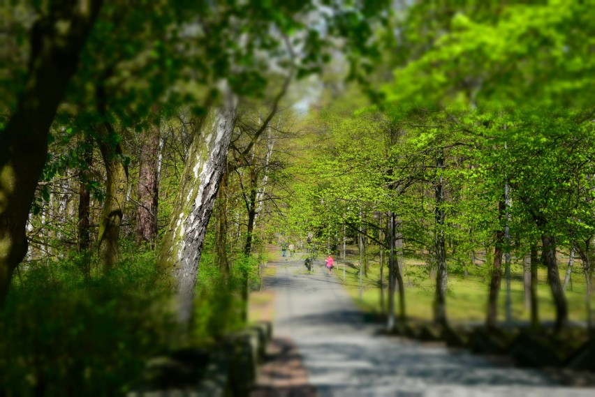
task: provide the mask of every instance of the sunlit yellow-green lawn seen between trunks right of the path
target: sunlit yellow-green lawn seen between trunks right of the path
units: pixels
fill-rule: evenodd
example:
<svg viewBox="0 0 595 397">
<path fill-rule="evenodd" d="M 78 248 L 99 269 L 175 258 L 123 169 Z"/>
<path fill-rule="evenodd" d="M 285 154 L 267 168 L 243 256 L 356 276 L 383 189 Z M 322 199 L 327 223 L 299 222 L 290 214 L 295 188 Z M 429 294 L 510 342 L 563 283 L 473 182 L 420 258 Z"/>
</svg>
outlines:
<svg viewBox="0 0 595 397">
<path fill-rule="evenodd" d="M 359 299 L 359 268 L 358 257 L 347 257 L 346 286 L 349 294 L 355 299 L 362 309 L 381 313 L 380 287 L 379 287 L 379 264 L 371 262 L 367 277 L 363 278 L 362 301 Z M 343 278 L 342 261 L 336 276 Z M 350 266 L 349 263 L 355 265 Z M 561 264 L 560 277 L 564 280 L 566 266 Z M 432 303 L 434 301 L 435 283 L 429 279 L 429 274 L 423 262 L 420 260 L 405 260 L 404 283 L 406 285 L 406 310 L 410 318 L 420 320 L 432 319 Z M 450 271 L 450 269 L 449 269 Z M 529 320 L 529 310 L 524 307 L 524 287 L 522 281 L 522 266 L 513 264 L 511 266 L 511 300 L 513 321 Z M 550 286 L 545 280 L 545 269 L 538 271 L 538 307 L 541 321 L 554 320 L 554 304 Z M 388 267 L 384 269 L 384 285 L 388 285 Z M 454 322 L 483 322 L 485 320 L 485 308 L 487 306 L 487 288 L 489 276 L 485 267 L 469 269 L 469 276 L 463 274 L 448 275 L 447 292 L 447 314 Z M 387 296 L 388 287 L 385 289 Z M 398 295 L 395 298 L 395 306 L 398 308 Z M 585 303 L 585 279 L 582 277 L 582 269 L 576 266 L 573 271 L 573 287 L 566 290 L 568 301 L 569 319 L 576 322 L 585 322 L 587 318 Z M 501 292 L 499 295 L 499 320 L 505 320 L 506 309 L 506 278 L 502 278 Z"/>
</svg>

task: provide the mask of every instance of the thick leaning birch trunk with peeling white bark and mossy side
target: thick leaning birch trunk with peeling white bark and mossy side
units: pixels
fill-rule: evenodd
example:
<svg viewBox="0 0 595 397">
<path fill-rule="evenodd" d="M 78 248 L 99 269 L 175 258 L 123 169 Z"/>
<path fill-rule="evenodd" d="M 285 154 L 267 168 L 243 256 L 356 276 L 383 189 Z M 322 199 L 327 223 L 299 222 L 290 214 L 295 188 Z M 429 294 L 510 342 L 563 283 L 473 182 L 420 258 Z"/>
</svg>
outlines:
<svg viewBox="0 0 595 397">
<path fill-rule="evenodd" d="M 161 244 L 159 267 L 170 277 L 178 298 L 178 320 L 189 324 L 194 286 L 207 224 L 226 171 L 227 154 L 235 122 L 237 100 L 230 90 L 224 103 L 213 107 L 198 123 L 188 162 L 182 173 L 180 195 Z"/>
</svg>

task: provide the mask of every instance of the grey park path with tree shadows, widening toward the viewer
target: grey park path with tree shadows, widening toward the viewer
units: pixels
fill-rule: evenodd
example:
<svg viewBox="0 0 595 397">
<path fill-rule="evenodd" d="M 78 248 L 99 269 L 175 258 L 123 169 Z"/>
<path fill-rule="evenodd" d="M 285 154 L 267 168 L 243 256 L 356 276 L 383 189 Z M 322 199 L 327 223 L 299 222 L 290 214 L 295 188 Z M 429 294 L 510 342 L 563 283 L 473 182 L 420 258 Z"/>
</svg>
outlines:
<svg viewBox="0 0 595 397">
<path fill-rule="evenodd" d="M 380 336 L 322 261 L 309 275 L 300 255 L 284 259 L 269 263 L 277 272 L 265 278 L 265 290 L 276 296 L 274 351 L 254 396 L 595 396 L 595 389 L 562 387 L 538 370 L 499 368 L 465 351 Z"/>
</svg>

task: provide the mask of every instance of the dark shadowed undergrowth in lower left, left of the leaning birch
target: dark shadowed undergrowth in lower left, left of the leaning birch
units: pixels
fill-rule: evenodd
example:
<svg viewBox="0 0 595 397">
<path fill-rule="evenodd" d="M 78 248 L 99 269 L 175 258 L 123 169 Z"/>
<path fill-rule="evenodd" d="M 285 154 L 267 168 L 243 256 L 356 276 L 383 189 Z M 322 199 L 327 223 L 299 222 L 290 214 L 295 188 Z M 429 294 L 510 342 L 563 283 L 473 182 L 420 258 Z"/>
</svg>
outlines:
<svg viewBox="0 0 595 397">
<path fill-rule="evenodd" d="M 172 346 L 152 253 L 126 253 L 85 277 L 89 255 L 27 262 L 0 312 L 0 383 L 8 395 L 113 395 Z"/>
</svg>

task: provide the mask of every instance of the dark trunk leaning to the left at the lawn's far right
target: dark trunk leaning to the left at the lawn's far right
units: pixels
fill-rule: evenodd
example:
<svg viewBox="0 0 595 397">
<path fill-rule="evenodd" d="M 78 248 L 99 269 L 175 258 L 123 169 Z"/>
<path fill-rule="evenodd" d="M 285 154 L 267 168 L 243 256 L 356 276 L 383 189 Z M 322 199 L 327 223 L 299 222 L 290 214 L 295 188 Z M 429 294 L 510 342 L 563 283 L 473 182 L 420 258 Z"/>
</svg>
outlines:
<svg viewBox="0 0 595 397">
<path fill-rule="evenodd" d="M 566 304 L 566 296 L 560 283 L 558 262 L 556 260 L 556 239 L 548 232 L 542 232 L 541 242 L 543 244 L 543 261 L 548 266 L 550 289 L 552 290 L 552 297 L 554 297 L 554 306 L 556 308 L 554 331 L 559 333 L 568 325 L 568 305 Z"/>
</svg>

